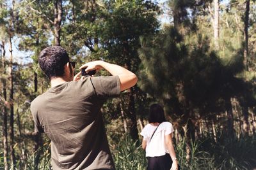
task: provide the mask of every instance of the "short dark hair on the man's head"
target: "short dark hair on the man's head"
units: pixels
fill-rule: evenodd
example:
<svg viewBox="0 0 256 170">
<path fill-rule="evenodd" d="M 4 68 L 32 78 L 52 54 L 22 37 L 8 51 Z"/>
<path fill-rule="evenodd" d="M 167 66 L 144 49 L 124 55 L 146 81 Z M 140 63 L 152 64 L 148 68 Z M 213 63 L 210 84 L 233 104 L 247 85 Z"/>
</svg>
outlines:
<svg viewBox="0 0 256 170">
<path fill-rule="evenodd" d="M 38 57 L 40 68 L 50 79 L 63 76 L 64 66 L 69 61 L 67 51 L 61 46 L 48 46 Z"/>
</svg>

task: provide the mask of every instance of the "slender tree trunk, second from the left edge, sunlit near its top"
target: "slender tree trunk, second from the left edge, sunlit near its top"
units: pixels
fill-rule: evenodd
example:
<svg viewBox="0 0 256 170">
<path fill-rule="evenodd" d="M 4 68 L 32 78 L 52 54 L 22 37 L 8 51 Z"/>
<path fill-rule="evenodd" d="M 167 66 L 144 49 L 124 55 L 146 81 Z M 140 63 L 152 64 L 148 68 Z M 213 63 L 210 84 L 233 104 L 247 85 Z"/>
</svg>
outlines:
<svg viewBox="0 0 256 170">
<path fill-rule="evenodd" d="M 9 66 L 9 71 L 10 71 L 10 76 L 9 76 L 9 80 L 10 80 L 10 159 L 11 162 L 13 164 L 13 166 L 15 165 L 15 151 L 14 151 L 14 110 L 13 110 L 13 67 L 12 67 L 12 62 L 13 62 L 13 55 L 12 55 L 12 38 L 9 38 L 9 51 L 10 51 L 10 66 Z"/>
</svg>

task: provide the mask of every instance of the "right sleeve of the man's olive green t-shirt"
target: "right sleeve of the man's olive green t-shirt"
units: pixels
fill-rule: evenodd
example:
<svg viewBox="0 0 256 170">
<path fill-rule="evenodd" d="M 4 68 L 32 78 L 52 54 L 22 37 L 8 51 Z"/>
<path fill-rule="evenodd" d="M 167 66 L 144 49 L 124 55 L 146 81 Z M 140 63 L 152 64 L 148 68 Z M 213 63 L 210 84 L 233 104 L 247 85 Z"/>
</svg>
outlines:
<svg viewBox="0 0 256 170">
<path fill-rule="evenodd" d="M 118 76 L 91 77 L 92 86 L 96 96 L 111 98 L 120 95 L 120 80 Z"/>
</svg>

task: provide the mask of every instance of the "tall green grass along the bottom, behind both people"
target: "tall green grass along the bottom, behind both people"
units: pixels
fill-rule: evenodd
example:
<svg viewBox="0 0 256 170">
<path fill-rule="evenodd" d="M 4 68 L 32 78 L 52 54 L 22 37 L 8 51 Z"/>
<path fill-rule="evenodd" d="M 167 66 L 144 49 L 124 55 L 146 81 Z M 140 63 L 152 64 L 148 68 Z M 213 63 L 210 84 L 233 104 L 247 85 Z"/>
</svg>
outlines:
<svg viewBox="0 0 256 170">
<path fill-rule="evenodd" d="M 134 142 L 127 134 L 118 134 L 118 137 L 109 140 L 116 169 L 146 169 L 147 158 L 140 146 L 141 141 Z M 256 140 L 253 137 L 229 139 L 220 136 L 218 143 L 215 143 L 214 139 L 205 136 L 204 139 L 191 142 L 189 148 L 190 159 L 186 160 L 185 139 L 175 145 L 181 169 L 256 169 Z M 10 168 L 35 170 L 36 157 L 39 156 L 38 169 L 52 169 L 49 143 L 41 149 L 27 154 L 25 160 L 18 160 Z M 0 152 L 0 167 L 3 169 L 3 152 Z"/>
</svg>

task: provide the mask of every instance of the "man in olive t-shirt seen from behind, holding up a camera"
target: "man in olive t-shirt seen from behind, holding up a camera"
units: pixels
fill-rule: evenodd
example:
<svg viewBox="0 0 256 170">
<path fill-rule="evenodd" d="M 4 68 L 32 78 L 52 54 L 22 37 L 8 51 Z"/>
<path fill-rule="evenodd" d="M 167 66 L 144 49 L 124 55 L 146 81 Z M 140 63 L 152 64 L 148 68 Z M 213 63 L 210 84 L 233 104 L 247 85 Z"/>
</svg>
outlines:
<svg viewBox="0 0 256 170">
<path fill-rule="evenodd" d="M 86 72 L 106 69 L 113 76 L 79 78 L 74 62 L 60 46 L 40 52 L 38 62 L 51 89 L 36 97 L 31 112 L 36 132 L 51 139 L 53 169 L 115 169 L 100 108 L 137 82 L 131 71 L 104 61 L 84 64 Z"/>
</svg>

